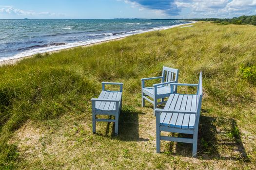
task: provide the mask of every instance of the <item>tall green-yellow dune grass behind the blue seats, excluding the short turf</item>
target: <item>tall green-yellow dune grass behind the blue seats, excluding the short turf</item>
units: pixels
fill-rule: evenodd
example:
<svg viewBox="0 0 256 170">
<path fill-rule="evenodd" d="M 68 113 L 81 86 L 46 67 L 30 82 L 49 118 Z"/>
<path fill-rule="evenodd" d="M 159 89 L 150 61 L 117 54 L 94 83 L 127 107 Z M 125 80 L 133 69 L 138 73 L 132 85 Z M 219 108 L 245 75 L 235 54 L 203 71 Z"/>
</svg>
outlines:
<svg viewBox="0 0 256 170">
<path fill-rule="evenodd" d="M 248 131 L 255 128 L 256 86 L 244 78 L 241 66 L 256 66 L 256 27 L 194 25 L 38 54 L 2 66 L 0 165 L 10 168 L 19 157 L 16 144 L 9 140 L 27 120 L 59 118 L 81 101 L 89 107 L 101 81 L 123 82 L 123 101 L 138 106 L 139 100 L 129 101 L 139 96 L 140 78 L 160 75 L 162 66 L 179 68 L 180 83 L 197 83 L 201 70 L 202 109 L 211 116 L 236 119 Z"/>
</svg>

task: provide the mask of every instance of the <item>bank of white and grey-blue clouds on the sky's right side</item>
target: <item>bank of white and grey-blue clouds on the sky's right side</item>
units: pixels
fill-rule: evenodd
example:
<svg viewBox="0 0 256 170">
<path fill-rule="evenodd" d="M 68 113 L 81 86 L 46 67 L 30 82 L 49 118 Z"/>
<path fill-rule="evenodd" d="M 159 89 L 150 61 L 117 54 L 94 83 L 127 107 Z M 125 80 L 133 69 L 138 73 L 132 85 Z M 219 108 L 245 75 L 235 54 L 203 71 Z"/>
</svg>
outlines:
<svg viewBox="0 0 256 170">
<path fill-rule="evenodd" d="M 120 1 L 120 0 L 118 0 Z M 123 0 L 159 17 L 237 17 L 256 15 L 256 0 Z M 146 11 L 146 10 L 145 10 Z M 185 11 L 185 12 L 184 12 Z M 177 16 L 178 15 L 178 16 Z"/>
</svg>

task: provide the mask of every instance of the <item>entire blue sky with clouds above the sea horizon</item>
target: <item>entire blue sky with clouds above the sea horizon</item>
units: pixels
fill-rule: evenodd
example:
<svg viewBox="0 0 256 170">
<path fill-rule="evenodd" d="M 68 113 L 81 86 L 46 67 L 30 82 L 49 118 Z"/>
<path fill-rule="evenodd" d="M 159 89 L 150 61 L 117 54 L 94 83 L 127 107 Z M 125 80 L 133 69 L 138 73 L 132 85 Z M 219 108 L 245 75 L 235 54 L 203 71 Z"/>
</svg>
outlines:
<svg viewBox="0 0 256 170">
<path fill-rule="evenodd" d="M 256 15 L 256 0 L 0 0 L 0 18 L 207 18 Z"/>
</svg>

